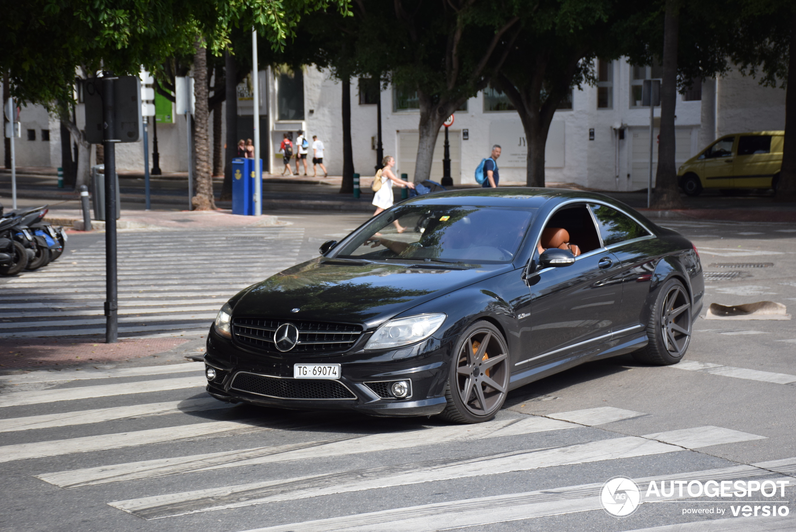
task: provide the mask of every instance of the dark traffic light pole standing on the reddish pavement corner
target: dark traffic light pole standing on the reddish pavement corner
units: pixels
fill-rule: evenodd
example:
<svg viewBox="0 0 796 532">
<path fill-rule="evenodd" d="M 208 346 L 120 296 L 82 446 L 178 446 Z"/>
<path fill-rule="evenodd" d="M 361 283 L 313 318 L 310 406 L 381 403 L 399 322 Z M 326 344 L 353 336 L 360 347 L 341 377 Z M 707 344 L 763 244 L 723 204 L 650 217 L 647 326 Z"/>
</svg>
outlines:
<svg viewBox="0 0 796 532">
<path fill-rule="evenodd" d="M 115 76 L 103 77 L 103 146 L 105 151 L 105 342 L 119 340 L 119 293 L 116 270 Z"/>
</svg>

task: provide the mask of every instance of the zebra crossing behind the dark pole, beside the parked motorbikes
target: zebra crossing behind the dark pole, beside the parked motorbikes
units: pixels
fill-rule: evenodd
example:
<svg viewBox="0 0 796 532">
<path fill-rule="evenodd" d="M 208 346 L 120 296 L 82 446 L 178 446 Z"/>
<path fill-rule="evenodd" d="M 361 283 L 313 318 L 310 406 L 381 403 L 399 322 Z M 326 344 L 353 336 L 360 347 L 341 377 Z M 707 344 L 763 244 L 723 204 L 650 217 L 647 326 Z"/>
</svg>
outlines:
<svg viewBox="0 0 796 532">
<path fill-rule="evenodd" d="M 303 240 L 294 226 L 119 231 L 119 336 L 206 332 L 229 297 L 299 262 Z M 0 336 L 105 331 L 104 240 L 0 283 Z"/>
</svg>

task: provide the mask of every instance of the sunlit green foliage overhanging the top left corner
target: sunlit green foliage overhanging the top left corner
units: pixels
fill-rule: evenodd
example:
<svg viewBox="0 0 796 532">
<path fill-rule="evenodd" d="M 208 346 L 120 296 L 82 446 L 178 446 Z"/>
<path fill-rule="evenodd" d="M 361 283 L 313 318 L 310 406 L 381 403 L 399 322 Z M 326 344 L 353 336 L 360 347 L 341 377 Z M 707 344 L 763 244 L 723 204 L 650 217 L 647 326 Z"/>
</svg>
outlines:
<svg viewBox="0 0 796 532">
<path fill-rule="evenodd" d="M 170 57 L 193 54 L 197 35 L 215 54 L 233 29 L 256 27 L 281 49 L 300 18 L 347 0 L 29 0 L 5 2 L 0 23 L 0 70 L 21 102 L 72 99 L 77 74 L 100 68 L 135 74 Z M 83 72 L 79 72 L 82 70 Z"/>
</svg>

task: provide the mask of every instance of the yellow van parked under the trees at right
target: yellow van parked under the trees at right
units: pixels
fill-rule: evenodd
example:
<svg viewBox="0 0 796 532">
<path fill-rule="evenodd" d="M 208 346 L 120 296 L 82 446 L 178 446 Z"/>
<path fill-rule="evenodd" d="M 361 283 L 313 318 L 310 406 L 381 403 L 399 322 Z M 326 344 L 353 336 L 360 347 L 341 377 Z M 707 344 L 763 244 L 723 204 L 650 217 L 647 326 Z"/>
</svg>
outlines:
<svg viewBox="0 0 796 532">
<path fill-rule="evenodd" d="M 724 135 L 677 170 L 677 184 L 689 196 L 704 188 L 777 189 L 784 131 Z"/>
</svg>

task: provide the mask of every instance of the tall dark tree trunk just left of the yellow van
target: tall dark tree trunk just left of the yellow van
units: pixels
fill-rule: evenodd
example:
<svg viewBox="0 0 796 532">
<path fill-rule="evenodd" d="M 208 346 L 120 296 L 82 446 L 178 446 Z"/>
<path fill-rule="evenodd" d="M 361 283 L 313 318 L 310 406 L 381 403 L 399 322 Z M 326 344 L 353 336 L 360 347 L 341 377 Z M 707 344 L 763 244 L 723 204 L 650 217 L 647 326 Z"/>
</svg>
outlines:
<svg viewBox="0 0 796 532">
<path fill-rule="evenodd" d="M 677 106 L 677 0 L 666 0 L 663 22 L 663 80 L 661 81 L 661 129 L 657 146 L 657 173 L 652 207 L 683 208 L 677 188 L 674 162 L 674 111 Z"/>
</svg>

